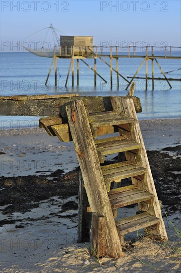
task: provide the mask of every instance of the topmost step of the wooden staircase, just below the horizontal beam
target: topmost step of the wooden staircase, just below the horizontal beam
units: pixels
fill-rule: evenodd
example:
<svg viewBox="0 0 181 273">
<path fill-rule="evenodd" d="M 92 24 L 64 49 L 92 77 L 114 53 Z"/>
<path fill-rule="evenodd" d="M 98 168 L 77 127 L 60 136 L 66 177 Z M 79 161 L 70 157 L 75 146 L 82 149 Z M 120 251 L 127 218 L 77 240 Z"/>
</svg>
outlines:
<svg viewBox="0 0 181 273">
<path fill-rule="evenodd" d="M 109 111 L 93 113 L 89 116 L 89 123 L 92 128 L 98 128 L 102 126 L 130 124 L 134 123 L 134 119 L 116 111 Z"/>
</svg>

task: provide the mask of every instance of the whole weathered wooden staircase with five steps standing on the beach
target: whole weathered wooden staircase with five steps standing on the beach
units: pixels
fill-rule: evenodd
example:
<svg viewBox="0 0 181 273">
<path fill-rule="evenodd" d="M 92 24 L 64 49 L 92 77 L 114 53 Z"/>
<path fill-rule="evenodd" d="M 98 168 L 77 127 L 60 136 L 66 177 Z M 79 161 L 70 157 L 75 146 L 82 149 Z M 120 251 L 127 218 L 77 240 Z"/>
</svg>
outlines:
<svg viewBox="0 0 181 273">
<path fill-rule="evenodd" d="M 94 254 L 119 258 L 127 233 L 144 228 L 152 238 L 168 238 L 133 97 L 111 97 L 111 104 L 112 111 L 90 113 L 86 99 L 77 97 L 65 107 L 68 124 L 62 124 L 60 117 L 40 122 L 49 135 L 74 142 L 81 169 L 78 233 L 81 224 L 90 220 L 86 219 L 90 213 L 85 212 L 90 205 Z M 108 164 L 105 156 L 111 154 L 119 154 L 121 160 Z M 127 178 L 131 185 L 121 186 L 121 180 Z M 132 204 L 138 204 L 138 214 L 116 219 L 119 208 Z M 83 241 L 79 237 L 78 242 Z"/>
</svg>

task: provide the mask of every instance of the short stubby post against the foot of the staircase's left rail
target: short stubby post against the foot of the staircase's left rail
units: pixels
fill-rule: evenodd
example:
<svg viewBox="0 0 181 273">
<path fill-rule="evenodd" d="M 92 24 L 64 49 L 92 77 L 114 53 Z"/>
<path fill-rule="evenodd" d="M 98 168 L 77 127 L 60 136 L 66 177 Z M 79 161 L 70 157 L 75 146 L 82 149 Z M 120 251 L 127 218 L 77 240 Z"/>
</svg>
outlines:
<svg viewBox="0 0 181 273">
<path fill-rule="evenodd" d="M 107 256 L 105 225 L 106 220 L 104 216 L 98 213 L 92 214 L 91 254 L 97 258 Z"/>
</svg>

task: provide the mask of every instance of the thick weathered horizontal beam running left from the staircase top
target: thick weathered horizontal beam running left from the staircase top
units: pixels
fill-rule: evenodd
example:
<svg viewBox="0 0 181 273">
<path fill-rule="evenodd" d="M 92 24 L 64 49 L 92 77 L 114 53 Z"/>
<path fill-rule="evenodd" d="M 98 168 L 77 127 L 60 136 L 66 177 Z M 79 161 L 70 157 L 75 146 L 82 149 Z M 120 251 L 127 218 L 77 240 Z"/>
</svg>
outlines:
<svg viewBox="0 0 181 273">
<path fill-rule="evenodd" d="M 45 96 L 45 95 L 44 95 Z M 0 115 L 5 116 L 60 116 L 66 117 L 65 106 L 72 100 L 86 99 L 89 113 L 112 111 L 111 97 L 78 97 L 66 94 L 66 97 L 47 97 L 42 99 L 24 99 L 22 96 L 0 97 Z M 23 96 L 25 97 L 25 96 Z M 30 96 L 26 96 L 30 97 Z M 134 98 L 134 97 L 133 97 Z"/>
</svg>

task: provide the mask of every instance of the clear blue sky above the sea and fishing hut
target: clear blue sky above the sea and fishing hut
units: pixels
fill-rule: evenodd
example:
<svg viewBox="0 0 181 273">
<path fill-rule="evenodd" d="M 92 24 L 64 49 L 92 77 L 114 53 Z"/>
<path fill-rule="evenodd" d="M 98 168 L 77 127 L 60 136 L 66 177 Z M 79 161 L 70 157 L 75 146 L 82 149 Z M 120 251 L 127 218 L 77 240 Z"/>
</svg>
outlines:
<svg viewBox="0 0 181 273">
<path fill-rule="evenodd" d="M 94 36 L 95 45 L 128 41 L 139 46 L 147 41 L 181 46 L 180 0 L 0 0 L 0 4 L 1 43 L 9 43 L 1 51 L 10 51 L 10 42 L 15 44 L 50 23 L 67 35 Z M 28 39 L 43 41 L 46 31 Z"/>
</svg>

